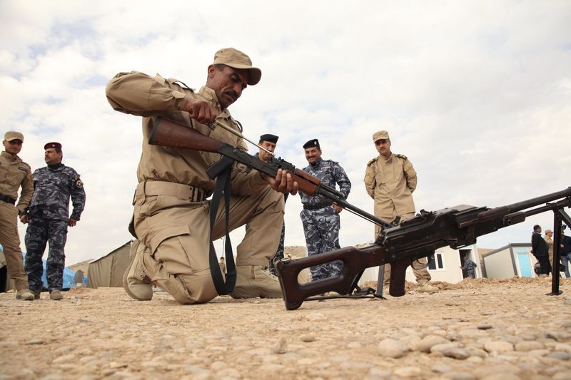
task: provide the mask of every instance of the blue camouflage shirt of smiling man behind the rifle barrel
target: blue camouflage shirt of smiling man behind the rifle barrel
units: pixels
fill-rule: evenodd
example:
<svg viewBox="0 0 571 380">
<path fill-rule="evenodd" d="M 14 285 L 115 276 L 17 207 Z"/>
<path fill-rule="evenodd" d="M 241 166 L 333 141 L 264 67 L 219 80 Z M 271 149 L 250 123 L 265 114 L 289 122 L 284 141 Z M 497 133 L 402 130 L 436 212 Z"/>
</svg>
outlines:
<svg viewBox="0 0 571 380">
<path fill-rule="evenodd" d="M 351 181 L 339 163 L 336 163 L 333 160 L 323 160 L 322 158 L 318 158 L 318 160 L 315 161 L 315 164 L 309 164 L 307 167 L 303 168 L 303 171 L 319 178 L 323 185 L 327 185 L 330 188 L 336 188 L 335 184 L 339 185 L 339 191 L 342 192 L 345 196 L 344 198 L 347 199 L 349 192 L 351 191 Z M 331 203 L 330 200 L 327 200 L 320 195 L 305 195 L 303 192 L 300 192 L 299 194 L 303 205 Z"/>
</svg>

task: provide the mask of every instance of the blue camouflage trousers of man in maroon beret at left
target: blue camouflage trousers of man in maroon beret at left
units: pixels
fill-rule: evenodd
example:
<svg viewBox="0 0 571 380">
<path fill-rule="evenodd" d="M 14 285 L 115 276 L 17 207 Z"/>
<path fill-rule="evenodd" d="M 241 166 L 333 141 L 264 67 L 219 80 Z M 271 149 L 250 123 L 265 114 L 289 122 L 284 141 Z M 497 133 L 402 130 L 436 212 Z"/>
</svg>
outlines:
<svg viewBox="0 0 571 380">
<path fill-rule="evenodd" d="M 44 256 L 46 243 L 49 243 L 48 259 L 46 260 L 46 279 L 48 290 L 61 290 L 64 277 L 66 255 L 64 247 L 67 240 L 67 220 L 44 219 L 32 216 L 26 230 L 26 272 L 31 291 L 41 291 L 41 275 L 44 267 L 41 257 Z"/>
</svg>

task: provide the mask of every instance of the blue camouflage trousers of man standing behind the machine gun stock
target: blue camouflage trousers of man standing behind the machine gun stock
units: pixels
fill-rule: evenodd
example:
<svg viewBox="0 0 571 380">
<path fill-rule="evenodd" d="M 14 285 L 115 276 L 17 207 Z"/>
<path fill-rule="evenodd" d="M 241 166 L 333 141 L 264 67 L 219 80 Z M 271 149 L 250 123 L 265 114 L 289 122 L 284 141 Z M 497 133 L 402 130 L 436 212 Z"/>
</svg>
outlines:
<svg viewBox="0 0 571 380">
<path fill-rule="evenodd" d="M 340 249 L 339 246 L 339 214 L 333 207 L 323 207 L 318 210 L 301 210 L 301 222 L 305 235 L 305 245 L 308 248 L 308 256 L 330 252 Z M 338 276 L 343 262 L 335 260 L 310 268 L 311 279 L 325 279 Z"/>
</svg>

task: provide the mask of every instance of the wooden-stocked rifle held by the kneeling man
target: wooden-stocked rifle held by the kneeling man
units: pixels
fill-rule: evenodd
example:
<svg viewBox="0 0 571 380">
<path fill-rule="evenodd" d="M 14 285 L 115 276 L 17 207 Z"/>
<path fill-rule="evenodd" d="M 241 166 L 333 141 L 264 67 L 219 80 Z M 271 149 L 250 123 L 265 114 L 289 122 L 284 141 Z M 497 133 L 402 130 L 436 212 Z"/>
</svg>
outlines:
<svg viewBox="0 0 571 380">
<path fill-rule="evenodd" d="M 228 127 L 226 127 L 228 129 Z M 153 131 L 151 136 L 148 138 L 148 143 L 151 145 L 161 145 L 173 148 L 186 148 L 193 150 L 203 150 L 211 153 L 220 153 L 223 156 L 231 158 L 238 163 L 243 163 L 248 166 L 248 168 L 256 169 L 261 173 L 269 175 L 271 177 L 276 177 L 278 170 L 287 170 L 291 175 L 293 175 L 293 180 L 298 183 L 298 190 L 307 195 L 321 195 L 331 203 L 335 203 L 340 207 L 343 207 L 355 215 L 363 217 L 369 222 L 373 222 L 376 225 L 382 227 L 390 227 L 393 224 L 390 222 L 385 222 L 375 215 L 361 210 L 358 207 L 351 205 L 345 200 L 343 193 L 338 192 L 334 188 L 330 188 L 327 185 L 321 183 L 319 178 L 313 177 L 303 170 L 295 168 L 295 166 L 282 158 L 274 158 L 270 163 L 266 163 L 259 158 L 250 155 L 243 150 L 233 147 L 232 145 L 216 140 L 215 138 L 210 138 L 202 133 L 188 127 L 187 125 L 178 123 L 173 120 L 158 118 L 155 125 L 153 125 Z M 214 178 L 216 173 L 218 173 L 218 165 L 226 165 L 225 161 L 220 160 L 218 163 L 208 168 L 207 172 L 211 178 Z"/>
</svg>

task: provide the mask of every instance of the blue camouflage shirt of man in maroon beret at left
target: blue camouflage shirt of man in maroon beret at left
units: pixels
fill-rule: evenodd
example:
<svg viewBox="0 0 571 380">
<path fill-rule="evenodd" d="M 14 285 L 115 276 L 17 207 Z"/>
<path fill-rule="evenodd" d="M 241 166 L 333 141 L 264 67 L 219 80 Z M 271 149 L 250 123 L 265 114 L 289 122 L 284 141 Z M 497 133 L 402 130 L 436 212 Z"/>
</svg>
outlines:
<svg viewBox="0 0 571 380">
<path fill-rule="evenodd" d="M 31 197 L 29 215 L 38 210 L 42 216 L 55 220 L 79 220 L 85 207 L 84 183 L 79 174 L 62 163 L 49 165 L 34 171 L 34 195 Z M 69 198 L 74 210 L 69 216 Z"/>
</svg>

